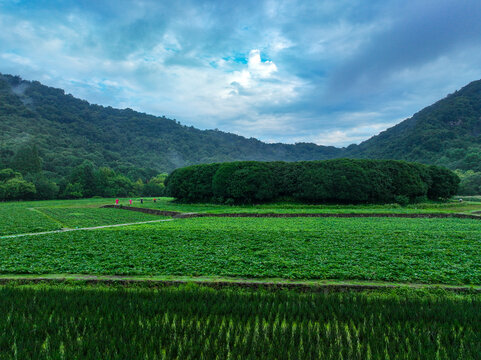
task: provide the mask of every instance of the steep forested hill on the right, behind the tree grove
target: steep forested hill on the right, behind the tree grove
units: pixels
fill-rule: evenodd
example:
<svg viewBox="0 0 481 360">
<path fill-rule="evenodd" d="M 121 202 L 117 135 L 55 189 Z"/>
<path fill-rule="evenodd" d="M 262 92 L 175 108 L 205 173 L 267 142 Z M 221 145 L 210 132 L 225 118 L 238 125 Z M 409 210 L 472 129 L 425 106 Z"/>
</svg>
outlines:
<svg viewBox="0 0 481 360">
<path fill-rule="evenodd" d="M 481 80 L 360 145 L 349 146 L 344 155 L 481 171 Z"/>
</svg>

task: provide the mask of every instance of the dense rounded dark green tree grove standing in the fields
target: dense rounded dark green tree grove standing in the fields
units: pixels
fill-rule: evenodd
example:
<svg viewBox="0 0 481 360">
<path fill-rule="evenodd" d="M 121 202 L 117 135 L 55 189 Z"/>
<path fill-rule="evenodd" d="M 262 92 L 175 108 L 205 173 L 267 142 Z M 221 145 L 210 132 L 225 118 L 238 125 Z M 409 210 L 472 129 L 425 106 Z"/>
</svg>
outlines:
<svg viewBox="0 0 481 360">
<path fill-rule="evenodd" d="M 188 202 L 407 204 L 449 198 L 459 178 L 432 165 L 396 160 L 336 159 L 304 162 L 240 161 L 193 165 L 166 179 L 171 196 Z"/>
</svg>

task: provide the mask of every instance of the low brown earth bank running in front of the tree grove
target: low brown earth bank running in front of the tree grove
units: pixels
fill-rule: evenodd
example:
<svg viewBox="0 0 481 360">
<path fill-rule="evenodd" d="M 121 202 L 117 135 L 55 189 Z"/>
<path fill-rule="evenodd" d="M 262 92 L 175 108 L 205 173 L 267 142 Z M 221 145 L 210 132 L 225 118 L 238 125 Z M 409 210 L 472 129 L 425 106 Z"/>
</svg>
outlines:
<svg viewBox="0 0 481 360">
<path fill-rule="evenodd" d="M 104 205 L 103 208 L 115 208 L 121 210 L 138 211 L 145 214 L 172 216 L 176 219 L 199 218 L 199 217 L 258 217 L 258 218 L 296 218 L 296 217 L 319 217 L 319 218 L 368 218 L 368 217 L 390 217 L 390 218 L 427 218 L 427 219 L 475 219 L 481 220 L 481 216 L 457 213 L 183 213 L 179 211 L 156 210 L 122 205 Z"/>
</svg>

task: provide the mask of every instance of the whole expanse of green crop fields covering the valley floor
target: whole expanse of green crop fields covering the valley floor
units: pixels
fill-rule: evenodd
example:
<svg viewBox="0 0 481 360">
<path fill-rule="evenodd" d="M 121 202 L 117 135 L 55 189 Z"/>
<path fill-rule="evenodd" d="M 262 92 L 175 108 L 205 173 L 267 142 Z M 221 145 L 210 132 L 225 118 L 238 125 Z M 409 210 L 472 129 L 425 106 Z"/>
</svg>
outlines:
<svg viewBox="0 0 481 360">
<path fill-rule="evenodd" d="M 114 200 L 0 204 L 0 359 L 479 358 L 480 220 L 166 219 L 100 208 Z M 200 213 L 481 211 L 478 198 L 407 207 L 169 198 L 133 199 L 133 206 Z M 135 224 L 151 220 L 169 221 Z M 126 223 L 134 225 L 14 235 Z M 110 285 L 78 280 L 97 276 Z M 31 284 L 39 277 L 77 280 Z M 179 280 L 231 287 L 161 286 Z M 251 282 L 308 288 L 239 288 Z M 427 289 L 408 288 L 413 283 Z M 316 291 L 333 284 L 384 290 Z M 400 288 L 386 288 L 391 284 Z"/>
</svg>

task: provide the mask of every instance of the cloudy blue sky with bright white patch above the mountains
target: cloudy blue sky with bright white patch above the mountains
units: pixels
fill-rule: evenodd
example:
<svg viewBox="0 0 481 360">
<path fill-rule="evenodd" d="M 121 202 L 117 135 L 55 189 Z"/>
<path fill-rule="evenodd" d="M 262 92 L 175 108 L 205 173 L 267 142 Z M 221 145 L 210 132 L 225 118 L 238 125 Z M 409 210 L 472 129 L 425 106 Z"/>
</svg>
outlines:
<svg viewBox="0 0 481 360">
<path fill-rule="evenodd" d="M 479 0 L 0 0 L 0 72 L 266 142 L 359 143 L 481 78 Z"/>
</svg>

